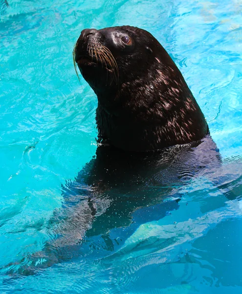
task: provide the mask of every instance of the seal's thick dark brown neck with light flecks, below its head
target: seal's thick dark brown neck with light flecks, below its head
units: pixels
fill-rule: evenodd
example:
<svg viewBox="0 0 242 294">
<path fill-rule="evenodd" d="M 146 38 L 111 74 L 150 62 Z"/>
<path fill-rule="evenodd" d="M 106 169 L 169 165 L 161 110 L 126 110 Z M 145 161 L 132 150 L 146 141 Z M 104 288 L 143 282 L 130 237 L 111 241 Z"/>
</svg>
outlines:
<svg viewBox="0 0 242 294">
<path fill-rule="evenodd" d="M 98 95 L 96 121 L 101 140 L 129 151 L 191 143 L 208 132 L 201 109 L 173 61 L 142 74 L 142 79 L 123 82 L 115 97 Z"/>
</svg>

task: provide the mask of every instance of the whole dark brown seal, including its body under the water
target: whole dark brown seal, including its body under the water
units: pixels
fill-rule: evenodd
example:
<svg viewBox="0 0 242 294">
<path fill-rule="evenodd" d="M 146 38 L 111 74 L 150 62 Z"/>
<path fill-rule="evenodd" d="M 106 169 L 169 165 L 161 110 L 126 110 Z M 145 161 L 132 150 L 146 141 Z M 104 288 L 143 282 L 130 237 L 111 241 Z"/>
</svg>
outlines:
<svg viewBox="0 0 242 294">
<path fill-rule="evenodd" d="M 85 29 L 73 59 L 98 98 L 100 144 L 75 180 L 62 186 L 62 207 L 47 225 L 55 238 L 17 269 L 7 265 L 8 273 L 34 274 L 93 251 L 107 256 L 139 225 L 179 209 L 193 177 L 219 182 L 220 153 L 198 103 L 149 32 Z"/>
</svg>

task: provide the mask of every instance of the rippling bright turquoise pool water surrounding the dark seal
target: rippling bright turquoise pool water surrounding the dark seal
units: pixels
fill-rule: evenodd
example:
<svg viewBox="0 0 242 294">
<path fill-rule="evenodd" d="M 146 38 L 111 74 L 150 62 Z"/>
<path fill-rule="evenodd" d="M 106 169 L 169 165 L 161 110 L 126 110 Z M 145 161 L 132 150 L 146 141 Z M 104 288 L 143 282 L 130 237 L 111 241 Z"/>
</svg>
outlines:
<svg viewBox="0 0 242 294">
<path fill-rule="evenodd" d="M 241 15 L 241 0 L 0 1 L 0 293 L 242 293 Z M 16 276 L 54 239 L 63 187 L 96 150 L 97 100 L 78 82 L 73 46 L 82 29 L 113 25 L 149 30 L 173 57 L 226 185 L 193 179 L 177 205 L 140 207 L 131 225 Z"/>
</svg>

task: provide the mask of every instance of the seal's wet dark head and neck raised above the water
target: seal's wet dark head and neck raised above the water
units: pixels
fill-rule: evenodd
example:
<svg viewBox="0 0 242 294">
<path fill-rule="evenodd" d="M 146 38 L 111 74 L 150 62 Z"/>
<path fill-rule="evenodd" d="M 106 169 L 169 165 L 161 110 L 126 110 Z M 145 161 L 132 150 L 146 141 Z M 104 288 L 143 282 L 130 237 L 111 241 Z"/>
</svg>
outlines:
<svg viewBox="0 0 242 294">
<path fill-rule="evenodd" d="M 84 29 L 73 58 L 98 98 L 99 138 L 147 151 L 198 141 L 204 116 L 166 50 L 132 26 Z"/>
</svg>

